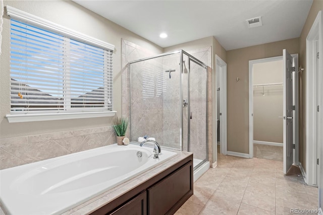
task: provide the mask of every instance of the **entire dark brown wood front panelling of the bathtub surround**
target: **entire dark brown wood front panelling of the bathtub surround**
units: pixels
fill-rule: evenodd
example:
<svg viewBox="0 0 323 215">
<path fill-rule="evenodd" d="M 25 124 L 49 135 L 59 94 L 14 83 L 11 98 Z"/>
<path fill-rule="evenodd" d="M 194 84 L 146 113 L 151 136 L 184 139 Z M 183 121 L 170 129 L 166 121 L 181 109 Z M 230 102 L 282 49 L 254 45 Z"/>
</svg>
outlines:
<svg viewBox="0 0 323 215">
<path fill-rule="evenodd" d="M 193 155 L 105 204 L 91 214 L 174 214 L 193 195 Z"/>
</svg>

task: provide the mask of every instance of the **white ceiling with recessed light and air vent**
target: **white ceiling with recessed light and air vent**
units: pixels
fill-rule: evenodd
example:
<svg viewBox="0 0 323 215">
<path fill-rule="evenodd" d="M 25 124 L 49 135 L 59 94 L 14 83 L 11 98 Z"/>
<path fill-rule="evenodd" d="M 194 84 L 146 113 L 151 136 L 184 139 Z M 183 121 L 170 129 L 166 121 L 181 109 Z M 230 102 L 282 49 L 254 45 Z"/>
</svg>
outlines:
<svg viewBox="0 0 323 215">
<path fill-rule="evenodd" d="M 226 50 L 300 36 L 312 0 L 90 1 L 77 4 L 161 46 L 214 36 Z M 262 26 L 246 19 L 261 16 Z M 159 37 L 166 32 L 168 37 Z"/>
</svg>

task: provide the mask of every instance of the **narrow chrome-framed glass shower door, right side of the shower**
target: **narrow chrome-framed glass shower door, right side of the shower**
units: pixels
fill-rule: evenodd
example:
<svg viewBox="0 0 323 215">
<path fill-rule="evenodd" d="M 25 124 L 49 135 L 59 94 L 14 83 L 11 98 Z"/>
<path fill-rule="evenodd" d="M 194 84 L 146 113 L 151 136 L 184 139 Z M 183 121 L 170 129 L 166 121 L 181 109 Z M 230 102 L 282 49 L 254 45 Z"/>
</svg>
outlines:
<svg viewBox="0 0 323 215">
<path fill-rule="evenodd" d="M 185 61 L 185 59 L 188 61 Z M 185 61 L 183 61 L 182 73 L 183 142 L 185 143 L 185 127 L 187 123 L 187 150 L 193 152 L 193 165 L 195 170 L 207 161 L 208 155 L 206 118 L 207 67 L 191 56 L 184 55 L 183 60 Z M 188 71 L 186 67 L 188 67 Z M 185 71 L 187 73 L 185 73 Z M 185 74 L 187 75 L 185 76 Z M 187 85 L 187 87 L 185 87 L 185 85 Z M 185 104 L 186 102 L 187 104 Z"/>
</svg>

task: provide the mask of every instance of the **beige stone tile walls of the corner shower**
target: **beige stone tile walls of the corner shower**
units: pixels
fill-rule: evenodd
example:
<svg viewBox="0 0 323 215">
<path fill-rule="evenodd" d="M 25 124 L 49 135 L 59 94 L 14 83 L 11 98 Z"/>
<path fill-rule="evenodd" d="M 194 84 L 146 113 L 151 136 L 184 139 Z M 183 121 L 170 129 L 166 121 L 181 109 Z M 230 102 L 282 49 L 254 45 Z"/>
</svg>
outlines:
<svg viewBox="0 0 323 215">
<path fill-rule="evenodd" d="M 130 89 L 130 67 L 129 62 L 138 59 L 143 59 L 147 57 L 156 56 L 140 46 L 131 43 L 127 40 L 122 40 L 122 62 L 123 62 L 123 115 L 131 117 L 131 130 L 128 136 L 131 140 L 136 141 L 138 136 L 148 134 L 156 138 L 160 145 L 178 148 L 180 149 L 180 109 L 182 106 L 182 101 L 180 100 L 180 57 L 179 55 L 170 55 L 163 58 L 156 58 L 154 60 L 147 60 L 144 62 L 136 63 L 131 65 L 131 80 L 138 85 L 131 86 Z M 196 50 L 187 51 L 190 55 L 194 56 L 198 60 L 202 61 L 206 65 L 212 65 L 211 62 L 211 47 L 200 48 Z M 185 55 L 184 55 L 185 58 Z M 184 59 L 185 60 L 185 59 Z M 162 65 L 162 68 L 160 68 Z M 185 63 L 188 69 L 188 61 L 186 58 Z M 171 79 L 169 79 L 166 70 L 176 69 L 176 72 L 172 72 Z M 147 70 L 147 71 L 144 71 Z M 203 78 L 199 78 L 197 73 L 192 84 L 197 86 L 191 90 L 191 102 L 195 103 L 195 109 L 191 110 L 194 112 L 194 120 L 196 123 L 191 123 L 191 151 L 194 153 L 195 158 L 204 159 L 208 155 L 208 159 L 212 160 L 212 134 L 211 134 L 211 72 L 212 69 L 208 68 L 207 74 L 205 74 L 205 69 L 203 71 L 197 68 L 197 72 L 201 72 L 204 75 Z M 142 76 L 142 74 L 151 74 L 152 76 Z M 207 87 L 206 76 L 208 79 Z M 156 80 L 158 77 L 163 78 L 163 84 L 165 88 L 163 89 L 163 94 L 158 94 Z M 185 75 L 182 77 L 185 78 Z M 153 85 L 151 87 L 150 93 L 154 96 L 151 98 L 143 99 L 143 80 L 150 81 Z M 161 79 L 158 79 L 161 80 Z M 198 81 L 199 80 L 199 81 Z M 196 82 L 196 83 L 195 83 Z M 202 83 L 203 82 L 203 83 Z M 147 86 L 146 86 L 147 87 Z M 148 87 L 148 88 L 149 88 Z M 187 89 L 187 86 L 183 85 L 183 90 Z M 207 90 L 207 98 L 206 98 Z M 129 97 L 131 95 L 131 98 Z M 202 100 L 201 100 L 202 98 Z M 206 103 L 207 102 L 207 103 Z M 130 104 L 131 109 L 130 110 Z M 208 108 L 207 116 L 205 115 L 206 106 Z M 132 112 L 132 113 L 130 113 Z M 189 114 L 189 113 L 186 113 Z M 185 117 L 184 113 L 184 124 L 187 124 L 187 115 Z M 207 126 L 206 126 L 207 125 Z M 208 127 L 208 129 L 206 128 Z M 184 141 L 187 142 L 187 131 L 185 127 L 183 128 Z M 207 133 L 207 137 L 205 136 Z M 192 136 L 193 135 L 193 136 Z M 207 139 L 205 139 L 207 138 Z M 207 145 L 205 141 L 207 140 Z M 184 145 L 184 150 L 187 150 L 187 146 Z M 206 151 L 208 150 L 208 154 Z M 211 163 L 211 162 L 210 162 Z"/>
</svg>

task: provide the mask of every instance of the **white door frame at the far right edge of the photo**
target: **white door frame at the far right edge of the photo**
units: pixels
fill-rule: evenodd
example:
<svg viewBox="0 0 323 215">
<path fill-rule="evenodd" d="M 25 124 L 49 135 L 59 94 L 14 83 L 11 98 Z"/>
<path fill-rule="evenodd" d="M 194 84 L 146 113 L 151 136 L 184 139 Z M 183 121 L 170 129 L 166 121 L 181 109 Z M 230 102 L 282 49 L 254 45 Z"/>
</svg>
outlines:
<svg viewBox="0 0 323 215">
<path fill-rule="evenodd" d="M 323 93 L 320 93 L 320 98 L 317 102 L 316 95 L 317 93 L 322 91 L 322 15 L 321 11 L 318 12 L 315 21 L 312 24 L 311 29 L 309 30 L 306 37 L 306 176 L 305 182 L 310 186 L 318 186 L 320 183 L 320 163 L 323 160 L 322 153 L 320 150 L 320 143 L 323 137 L 323 132 L 319 130 L 323 128 L 322 123 L 322 96 Z M 318 69 L 316 68 L 316 41 L 318 40 Z M 313 73 L 312 71 L 317 71 Z M 316 77 L 318 75 L 318 77 Z M 317 79 L 319 80 L 319 89 L 317 91 Z M 317 107 L 316 104 L 319 104 L 319 112 L 317 115 Z M 320 121 L 317 128 L 317 120 Z M 319 131 L 317 133 L 317 131 Z M 312 144 L 313 143 L 313 144 Z M 315 144 L 316 143 L 316 144 Z M 316 153 L 318 152 L 318 154 Z M 319 158 L 319 165 L 316 164 L 316 158 Z M 318 174 L 318 180 L 317 179 Z M 321 201 L 321 192 L 319 192 L 319 202 Z M 320 203 L 319 203 L 319 206 Z"/>
</svg>

